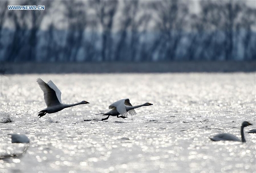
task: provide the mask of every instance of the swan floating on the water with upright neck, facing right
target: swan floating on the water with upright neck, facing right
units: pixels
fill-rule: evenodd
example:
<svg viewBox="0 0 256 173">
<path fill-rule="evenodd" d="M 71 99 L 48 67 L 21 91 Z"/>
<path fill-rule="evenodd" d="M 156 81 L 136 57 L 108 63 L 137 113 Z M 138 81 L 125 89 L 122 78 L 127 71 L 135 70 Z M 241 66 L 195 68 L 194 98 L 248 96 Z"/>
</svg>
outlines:
<svg viewBox="0 0 256 173">
<path fill-rule="evenodd" d="M 252 124 L 247 121 L 244 121 L 242 123 L 242 126 L 241 126 L 242 142 L 246 142 L 245 137 L 244 137 L 244 127 L 247 127 L 249 125 L 252 125 Z M 241 142 L 241 140 L 238 137 L 236 137 L 232 134 L 227 134 L 227 133 L 215 135 L 214 137 L 212 137 L 210 139 L 212 141 L 240 141 Z"/>
</svg>

